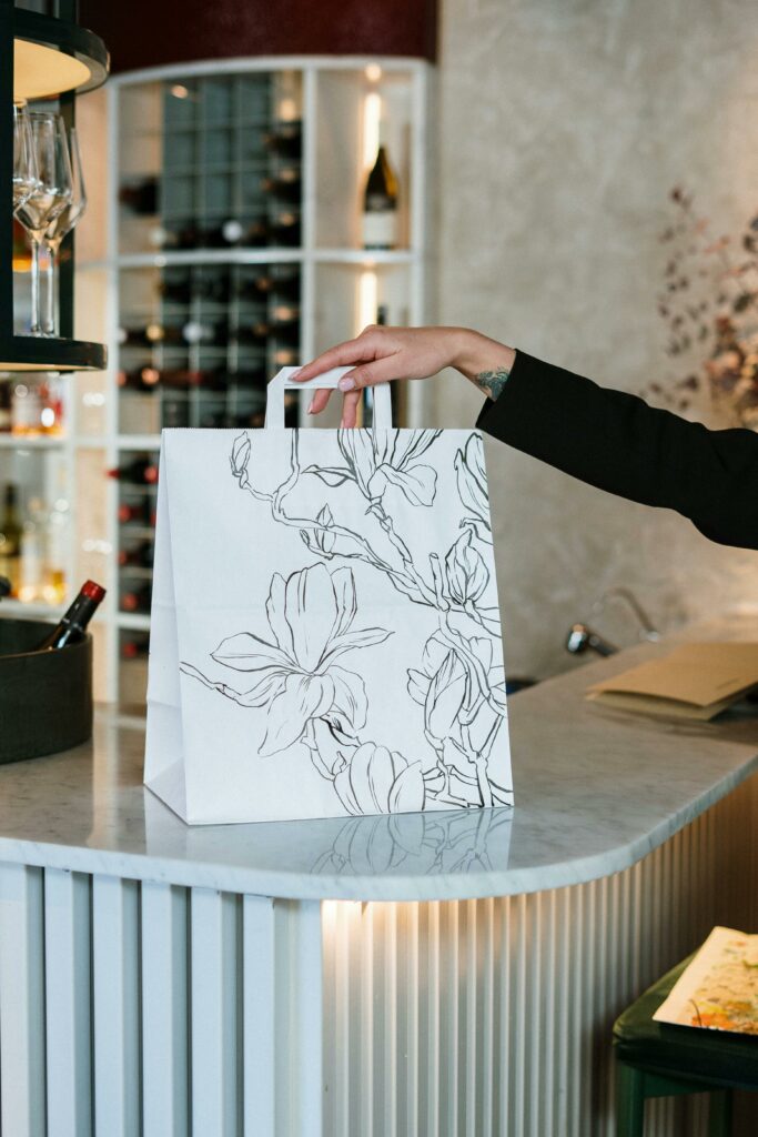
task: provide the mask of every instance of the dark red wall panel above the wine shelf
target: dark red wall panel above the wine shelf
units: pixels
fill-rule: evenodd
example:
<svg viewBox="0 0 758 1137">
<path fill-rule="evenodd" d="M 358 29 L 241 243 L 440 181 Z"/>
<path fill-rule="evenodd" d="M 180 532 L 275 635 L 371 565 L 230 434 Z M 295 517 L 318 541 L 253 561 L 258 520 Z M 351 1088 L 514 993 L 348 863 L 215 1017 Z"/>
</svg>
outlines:
<svg viewBox="0 0 758 1137">
<path fill-rule="evenodd" d="M 268 55 L 436 53 L 436 0 L 81 0 L 115 72 Z"/>
</svg>

